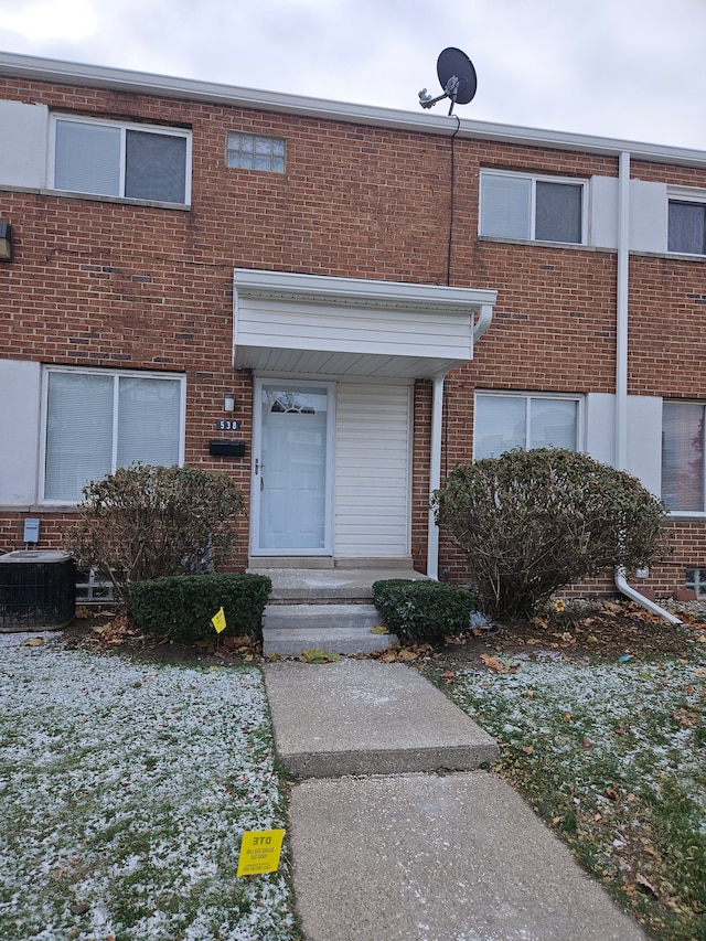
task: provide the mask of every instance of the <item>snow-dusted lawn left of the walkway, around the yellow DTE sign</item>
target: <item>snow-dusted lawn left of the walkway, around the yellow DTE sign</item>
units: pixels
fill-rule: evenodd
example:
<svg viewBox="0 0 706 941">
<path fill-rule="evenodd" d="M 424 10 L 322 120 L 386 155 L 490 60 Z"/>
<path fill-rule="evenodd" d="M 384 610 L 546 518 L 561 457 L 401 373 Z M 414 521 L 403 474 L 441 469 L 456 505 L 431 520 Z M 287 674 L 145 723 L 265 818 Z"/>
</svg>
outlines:
<svg viewBox="0 0 706 941">
<path fill-rule="evenodd" d="M 236 878 L 285 826 L 256 667 L 132 663 L 0 635 L 0 938 L 293 939 L 285 875 Z"/>
</svg>

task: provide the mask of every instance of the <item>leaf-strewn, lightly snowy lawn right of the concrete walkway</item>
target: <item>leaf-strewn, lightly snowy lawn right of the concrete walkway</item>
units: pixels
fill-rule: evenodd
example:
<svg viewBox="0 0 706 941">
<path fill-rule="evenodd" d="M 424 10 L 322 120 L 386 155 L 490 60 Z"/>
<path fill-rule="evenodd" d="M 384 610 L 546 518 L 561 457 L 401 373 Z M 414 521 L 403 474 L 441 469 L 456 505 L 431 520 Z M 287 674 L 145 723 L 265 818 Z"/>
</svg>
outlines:
<svg viewBox="0 0 706 941">
<path fill-rule="evenodd" d="M 659 939 L 706 939 L 706 664 L 489 657 L 453 699 L 495 770 Z"/>
</svg>

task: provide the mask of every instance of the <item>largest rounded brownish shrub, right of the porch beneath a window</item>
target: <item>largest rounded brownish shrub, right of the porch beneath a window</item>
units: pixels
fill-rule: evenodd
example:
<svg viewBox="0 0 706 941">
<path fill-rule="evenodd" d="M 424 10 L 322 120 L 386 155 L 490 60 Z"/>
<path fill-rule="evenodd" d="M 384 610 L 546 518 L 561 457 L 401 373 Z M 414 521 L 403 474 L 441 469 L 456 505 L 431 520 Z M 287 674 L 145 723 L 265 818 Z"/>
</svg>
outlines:
<svg viewBox="0 0 706 941">
<path fill-rule="evenodd" d="M 528 617 L 564 585 L 667 550 L 664 506 L 637 478 L 560 448 L 459 464 L 431 505 L 494 617 Z"/>
</svg>

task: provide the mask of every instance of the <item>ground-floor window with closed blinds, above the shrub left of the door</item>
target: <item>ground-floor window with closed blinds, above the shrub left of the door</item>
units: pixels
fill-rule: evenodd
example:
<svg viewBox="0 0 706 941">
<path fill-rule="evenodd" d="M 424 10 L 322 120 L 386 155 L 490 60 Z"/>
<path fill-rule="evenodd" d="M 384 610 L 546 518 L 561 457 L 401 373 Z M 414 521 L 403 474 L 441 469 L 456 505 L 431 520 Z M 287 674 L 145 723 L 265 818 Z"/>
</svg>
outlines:
<svg viewBox="0 0 706 941">
<path fill-rule="evenodd" d="M 77 502 L 88 481 L 137 461 L 183 463 L 184 393 L 180 375 L 49 366 L 43 500 Z"/>
</svg>

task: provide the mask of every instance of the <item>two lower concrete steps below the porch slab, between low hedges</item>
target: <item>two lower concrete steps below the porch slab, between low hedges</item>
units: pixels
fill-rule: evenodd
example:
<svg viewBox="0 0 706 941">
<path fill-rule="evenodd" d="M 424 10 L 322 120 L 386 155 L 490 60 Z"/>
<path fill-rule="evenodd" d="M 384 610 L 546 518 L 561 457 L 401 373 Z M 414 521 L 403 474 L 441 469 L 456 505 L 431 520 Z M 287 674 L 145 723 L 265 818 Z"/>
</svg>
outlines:
<svg viewBox="0 0 706 941">
<path fill-rule="evenodd" d="M 335 653 L 387 650 L 395 638 L 371 633 L 379 622 L 374 605 L 267 605 L 263 653 L 299 656 L 311 649 Z"/>
</svg>

